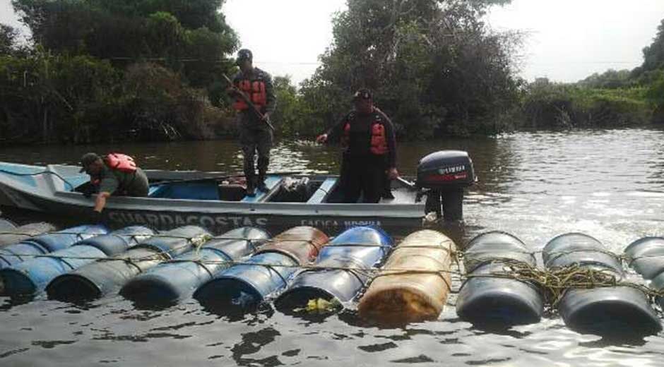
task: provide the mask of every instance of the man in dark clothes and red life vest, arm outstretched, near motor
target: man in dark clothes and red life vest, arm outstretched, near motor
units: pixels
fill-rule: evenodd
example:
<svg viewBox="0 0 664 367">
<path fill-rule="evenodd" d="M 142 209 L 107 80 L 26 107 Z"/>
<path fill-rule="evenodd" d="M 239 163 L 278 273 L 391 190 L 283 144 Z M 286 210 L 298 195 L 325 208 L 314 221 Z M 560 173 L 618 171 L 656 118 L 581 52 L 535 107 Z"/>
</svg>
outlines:
<svg viewBox="0 0 664 367">
<path fill-rule="evenodd" d="M 386 179 L 396 179 L 396 139 L 392 121 L 374 107 L 372 92 L 358 90 L 355 109 L 336 126 L 316 138 L 318 143 L 339 142 L 343 148 L 340 188 L 344 203 L 378 203 L 386 193 Z M 391 193 L 389 194 L 391 196 Z"/>
</svg>

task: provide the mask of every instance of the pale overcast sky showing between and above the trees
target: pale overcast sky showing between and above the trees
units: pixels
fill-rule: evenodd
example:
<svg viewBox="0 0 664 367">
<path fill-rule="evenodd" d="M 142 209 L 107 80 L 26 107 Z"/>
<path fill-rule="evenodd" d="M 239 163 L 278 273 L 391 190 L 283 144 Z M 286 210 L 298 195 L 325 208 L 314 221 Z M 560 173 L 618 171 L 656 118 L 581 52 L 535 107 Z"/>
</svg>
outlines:
<svg viewBox="0 0 664 367">
<path fill-rule="evenodd" d="M 10 3 L 0 0 L 0 23 L 18 25 Z M 316 69 L 343 8 L 345 0 L 227 0 L 223 12 L 257 66 L 300 82 Z M 664 0 L 513 0 L 487 22 L 527 32 L 521 76 L 573 82 L 639 66 L 662 18 Z"/>
</svg>

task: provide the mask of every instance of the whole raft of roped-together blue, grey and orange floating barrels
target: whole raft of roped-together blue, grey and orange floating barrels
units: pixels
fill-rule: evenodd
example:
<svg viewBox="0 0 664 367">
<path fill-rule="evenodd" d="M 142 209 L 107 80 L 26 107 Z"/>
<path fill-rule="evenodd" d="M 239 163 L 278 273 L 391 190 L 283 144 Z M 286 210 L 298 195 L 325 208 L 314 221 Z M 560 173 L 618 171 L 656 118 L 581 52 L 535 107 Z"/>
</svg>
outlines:
<svg viewBox="0 0 664 367">
<path fill-rule="evenodd" d="M 540 266 L 511 234 L 476 236 L 463 251 L 458 317 L 480 327 L 511 327 L 538 323 L 549 306 L 579 332 L 651 335 L 662 329 L 646 287 L 627 282 L 621 258 L 597 239 L 563 234 L 541 253 Z M 141 306 L 193 298 L 213 312 L 251 311 L 266 301 L 290 315 L 357 306 L 365 320 L 410 323 L 439 318 L 457 255 L 451 239 L 429 229 L 396 245 L 381 229 L 362 226 L 333 238 L 314 227 L 276 236 L 241 227 L 213 236 L 196 226 L 56 231 L 47 223 L 19 227 L 0 219 L 0 292 L 72 302 L 121 294 Z M 635 241 L 624 258 L 664 294 L 663 238 Z M 586 275 L 597 284 L 579 281 L 552 292 L 554 283 L 546 291 L 536 279 L 543 274 L 558 280 Z"/>
</svg>

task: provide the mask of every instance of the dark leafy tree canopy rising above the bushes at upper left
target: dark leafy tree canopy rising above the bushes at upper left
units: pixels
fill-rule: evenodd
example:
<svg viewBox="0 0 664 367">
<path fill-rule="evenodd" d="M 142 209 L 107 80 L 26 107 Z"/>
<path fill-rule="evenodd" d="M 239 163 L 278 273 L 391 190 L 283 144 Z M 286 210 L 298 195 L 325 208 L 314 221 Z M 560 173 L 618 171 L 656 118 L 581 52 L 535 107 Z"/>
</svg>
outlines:
<svg viewBox="0 0 664 367">
<path fill-rule="evenodd" d="M 34 41 L 45 49 L 89 54 L 126 67 L 159 61 L 184 81 L 208 88 L 230 67 L 235 32 L 218 10 L 223 0 L 13 0 Z"/>
</svg>

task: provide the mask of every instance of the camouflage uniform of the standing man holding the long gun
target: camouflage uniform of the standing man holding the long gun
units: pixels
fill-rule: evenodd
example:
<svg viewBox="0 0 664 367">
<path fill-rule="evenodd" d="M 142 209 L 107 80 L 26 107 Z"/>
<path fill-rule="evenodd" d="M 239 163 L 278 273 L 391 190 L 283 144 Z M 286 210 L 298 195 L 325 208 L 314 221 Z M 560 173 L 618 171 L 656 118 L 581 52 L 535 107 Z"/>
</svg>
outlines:
<svg viewBox="0 0 664 367">
<path fill-rule="evenodd" d="M 246 76 L 240 71 L 233 78 L 233 84 L 236 86 L 240 80 L 247 79 Z M 262 71 L 259 68 L 254 68 L 254 72 L 248 78 L 249 81 L 256 80 L 265 83 L 265 90 L 267 95 L 267 104 L 261 109 L 261 113 L 266 112 L 272 114 L 276 108 L 276 97 L 274 94 L 274 87 L 272 84 L 272 77 L 270 74 Z M 254 177 L 256 172 L 254 170 L 254 155 L 256 151 L 259 153 L 258 171 L 259 181 L 265 179 L 266 172 L 268 171 L 268 164 L 270 163 L 270 149 L 273 143 L 273 131 L 265 123 L 261 121 L 260 117 L 254 112 L 254 109 L 249 107 L 237 114 L 237 129 L 239 131 L 239 142 L 242 145 L 242 152 L 244 153 L 244 175 L 247 176 L 248 182 L 256 181 Z"/>
</svg>

